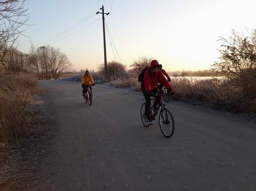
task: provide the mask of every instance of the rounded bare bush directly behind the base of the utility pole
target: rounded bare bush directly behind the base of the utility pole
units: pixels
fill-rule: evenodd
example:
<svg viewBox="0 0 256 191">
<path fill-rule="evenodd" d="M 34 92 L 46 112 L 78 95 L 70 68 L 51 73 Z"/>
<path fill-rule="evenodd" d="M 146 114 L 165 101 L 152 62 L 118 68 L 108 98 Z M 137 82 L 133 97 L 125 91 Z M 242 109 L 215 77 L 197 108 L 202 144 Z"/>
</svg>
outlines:
<svg viewBox="0 0 256 191">
<path fill-rule="evenodd" d="M 116 80 L 120 77 L 123 77 L 126 74 L 126 66 L 119 62 L 109 62 L 107 65 L 109 79 Z M 105 66 L 104 64 L 98 67 L 98 71 L 101 75 L 105 75 Z"/>
</svg>

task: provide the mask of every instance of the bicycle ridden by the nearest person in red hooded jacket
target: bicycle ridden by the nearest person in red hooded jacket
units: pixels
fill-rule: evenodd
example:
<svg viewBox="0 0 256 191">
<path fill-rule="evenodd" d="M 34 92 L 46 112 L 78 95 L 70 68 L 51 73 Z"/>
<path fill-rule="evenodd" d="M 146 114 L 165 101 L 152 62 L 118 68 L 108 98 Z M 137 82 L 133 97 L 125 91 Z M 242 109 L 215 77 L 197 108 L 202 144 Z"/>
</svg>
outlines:
<svg viewBox="0 0 256 191">
<path fill-rule="evenodd" d="M 167 109 L 166 105 L 163 104 L 163 96 L 164 92 L 160 91 L 156 96 L 160 96 L 160 103 L 158 104 L 158 107 L 156 108 L 156 111 L 152 108 L 152 105 L 150 105 L 150 111 L 151 111 L 151 120 L 155 120 L 156 115 L 158 114 L 158 111 L 160 109 L 159 113 L 159 128 L 166 138 L 172 137 L 175 130 L 175 123 L 174 123 L 174 117 L 172 116 L 172 113 Z M 170 94 L 169 94 L 170 96 Z M 151 100 L 155 100 L 156 98 L 151 98 Z M 145 105 L 146 103 L 143 103 L 141 105 L 141 120 L 142 124 L 146 127 L 150 126 L 146 124 L 147 116 L 145 114 Z"/>
</svg>

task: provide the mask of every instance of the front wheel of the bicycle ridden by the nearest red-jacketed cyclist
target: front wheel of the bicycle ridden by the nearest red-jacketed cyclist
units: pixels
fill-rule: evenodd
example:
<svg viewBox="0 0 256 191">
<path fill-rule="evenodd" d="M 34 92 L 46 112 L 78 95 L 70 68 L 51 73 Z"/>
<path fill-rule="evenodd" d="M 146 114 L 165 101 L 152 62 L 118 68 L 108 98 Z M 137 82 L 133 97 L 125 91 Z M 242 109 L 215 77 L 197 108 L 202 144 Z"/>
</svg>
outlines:
<svg viewBox="0 0 256 191">
<path fill-rule="evenodd" d="M 172 117 L 171 112 L 166 108 L 160 111 L 159 127 L 164 137 L 170 138 L 174 134 L 174 117 Z"/>
</svg>

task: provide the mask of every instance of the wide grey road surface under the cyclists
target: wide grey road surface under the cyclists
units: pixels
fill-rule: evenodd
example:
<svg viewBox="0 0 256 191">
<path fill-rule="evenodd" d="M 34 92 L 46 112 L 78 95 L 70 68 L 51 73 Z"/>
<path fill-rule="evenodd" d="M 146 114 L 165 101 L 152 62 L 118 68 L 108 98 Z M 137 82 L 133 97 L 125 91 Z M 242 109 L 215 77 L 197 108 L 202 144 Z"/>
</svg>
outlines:
<svg viewBox="0 0 256 191">
<path fill-rule="evenodd" d="M 256 190 L 256 124 L 182 103 L 167 106 L 174 137 L 144 128 L 142 94 L 40 81 L 56 134 L 33 190 Z"/>
</svg>

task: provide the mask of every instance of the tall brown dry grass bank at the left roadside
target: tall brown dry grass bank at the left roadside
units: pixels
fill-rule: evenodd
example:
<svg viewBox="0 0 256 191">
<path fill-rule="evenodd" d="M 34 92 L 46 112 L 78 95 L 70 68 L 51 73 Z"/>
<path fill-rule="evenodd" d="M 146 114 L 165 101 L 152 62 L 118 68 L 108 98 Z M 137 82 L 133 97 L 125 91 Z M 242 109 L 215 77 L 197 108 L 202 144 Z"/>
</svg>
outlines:
<svg viewBox="0 0 256 191">
<path fill-rule="evenodd" d="M 38 93 L 36 80 L 29 75 L 0 76 L 0 142 L 14 143 L 31 133 L 28 106 Z"/>
</svg>

